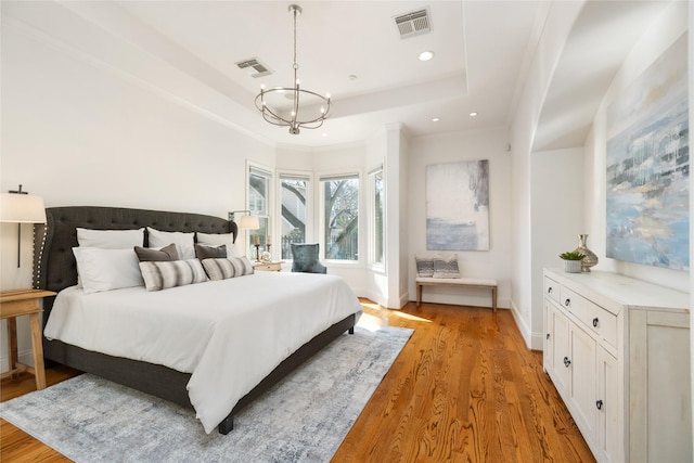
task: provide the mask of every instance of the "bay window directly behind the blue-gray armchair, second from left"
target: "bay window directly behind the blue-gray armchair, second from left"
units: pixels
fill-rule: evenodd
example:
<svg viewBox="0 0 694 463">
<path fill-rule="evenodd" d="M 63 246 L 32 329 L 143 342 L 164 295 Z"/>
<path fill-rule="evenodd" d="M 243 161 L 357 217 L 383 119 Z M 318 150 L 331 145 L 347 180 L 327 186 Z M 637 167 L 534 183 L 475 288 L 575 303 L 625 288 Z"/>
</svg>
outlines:
<svg viewBox="0 0 694 463">
<path fill-rule="evenodd" d="M 306 243 L 306 221 L 310 177 L 305 175 L 280 175 L 281 247 L 282 258 L 292 259 L 292 243 Z"/>
</svg>

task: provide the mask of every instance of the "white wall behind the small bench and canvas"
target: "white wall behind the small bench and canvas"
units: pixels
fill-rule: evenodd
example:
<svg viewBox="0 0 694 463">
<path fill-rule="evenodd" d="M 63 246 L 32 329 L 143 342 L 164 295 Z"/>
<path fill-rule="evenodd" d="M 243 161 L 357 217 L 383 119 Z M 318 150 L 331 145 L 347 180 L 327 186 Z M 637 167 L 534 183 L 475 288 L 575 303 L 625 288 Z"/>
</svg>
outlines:
<svg viewBox="0 0 694 463">
<path fill-rule="evenodd" d="M 511 154 L 505 146 L 505 127 L 450 133 L 440 137 L 414 138 L 409 143 L 408 229 L 409 229 L 409 295 L 414 300 L 416 269 L 414 255 L 426 253 L 426 166 L 465 160 L 489 159 L 489 250 L 460 252 L 459 265 L 465 276 L 493 278 L 499 281 L 499 307 L 511 301 Z M 450 290 L 432 287 L 425 292 L 427 301 L 487 306 L 486 290 Z"/>
</svg>

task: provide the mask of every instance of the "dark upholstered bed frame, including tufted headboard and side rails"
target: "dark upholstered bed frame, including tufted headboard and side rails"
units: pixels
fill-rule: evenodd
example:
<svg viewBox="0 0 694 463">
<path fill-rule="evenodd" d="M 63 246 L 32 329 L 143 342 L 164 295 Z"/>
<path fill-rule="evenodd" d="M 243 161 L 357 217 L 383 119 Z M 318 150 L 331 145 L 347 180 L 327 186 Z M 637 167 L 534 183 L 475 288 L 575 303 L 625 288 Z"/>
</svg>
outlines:
<svg viewBox="0 0 694 463">
<path fill-rule="evenodd" d="M 233 233 L 234 241 L 237 235 L 235 222 L 198 214 L 68 206 L 48 208 L 46 217 L 47 223 L 35 226 L 34 229 L 34 287 L 56 293 L 77 284 L 77 265 L 72 248 L 78 245 L 76 230 L 78 227 L 95 230 L 132 230 L 152 227 L 162 231 Z M 145 233 L 145 245 L 146 240 Z M 47 297 L 43 300 L 44 324 L 50 317 L 53 301 L 54 297 Z M 229 415 L 219 424 L 219 433 L 228 434 L 233 429 L 234 413 L 282 380 L 287 373 L 343 333 L 352 334 L 355 323 L 356 316 L 351 314 L 318 334 L 296 350 L 236 403 Z M 191 377 L 190 373 L 85 350 L 60 340 L 46 338 L 43 338 L 43 356 L 48 364 L 56 362 L 68 365 L 182 407 L 193 408 L 185 389 Z"/>
</svg>

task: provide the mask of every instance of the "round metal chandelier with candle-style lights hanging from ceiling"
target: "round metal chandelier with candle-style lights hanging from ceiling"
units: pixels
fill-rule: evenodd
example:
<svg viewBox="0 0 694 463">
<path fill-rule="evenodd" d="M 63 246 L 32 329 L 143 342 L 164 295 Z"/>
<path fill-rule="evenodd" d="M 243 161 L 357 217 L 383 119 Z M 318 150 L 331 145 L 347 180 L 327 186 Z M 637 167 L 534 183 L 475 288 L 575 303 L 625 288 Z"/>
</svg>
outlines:
<svg viewBox="0 0 694 463">
<path fill-rule="evenodd" d="M 299 78 L 297 76 L 297 70 L 299 65 L 296 63 L 296 16 L 301 14 L 301 7 L 297 4 L 290 5 L 290 14 L 294 16 L 294 87 L 274 87 L 272 89 L 266 90 L 265 85 L 260 86 L 260 93 L 256 97 L 256 107 L 260 113 L 262 113 L 262 118 L 270 124 L 281 127 L 288 127 L 290 133 L 296 136 L 299 134 L 300 128 L 307 129 L 318 129 L 323 125 L 325 118 L 327 118 L 327 114 L 330 113 L 331 102 L 330 94 L 325 97 L 312 92 L 310 90 L 305 90 L 299 87 Z M 268 94 L 282 94 L 285 98 L 292 100 L 292 112 L 290 113 L 290 117 L 285 118 L 282 115 L 273 110 L 266 102 L 266 97 Z M 307 119 L 299 119 L 299 100 L 301 97 L 307 99 L 311 99 L 321 104 L 320 113 L 317 111 L 313 116 L 309 116 Z M 311 118 L 312 117 L 312 118 Z"/>
</svg>

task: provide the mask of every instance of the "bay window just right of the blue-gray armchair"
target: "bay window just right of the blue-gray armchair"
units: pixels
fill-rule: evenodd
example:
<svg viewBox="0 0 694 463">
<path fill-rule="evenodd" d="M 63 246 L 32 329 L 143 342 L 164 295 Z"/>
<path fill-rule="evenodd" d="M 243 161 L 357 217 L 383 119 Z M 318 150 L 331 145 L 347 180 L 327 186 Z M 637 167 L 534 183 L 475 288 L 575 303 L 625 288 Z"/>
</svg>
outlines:
<svg viewBox="0 0 694 463">
<path fill-rule="evenodd" d="M 325 259 L 359 259 L 359 176 L 324 176 L 320 180 Z"/>
</svg>

